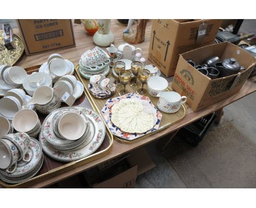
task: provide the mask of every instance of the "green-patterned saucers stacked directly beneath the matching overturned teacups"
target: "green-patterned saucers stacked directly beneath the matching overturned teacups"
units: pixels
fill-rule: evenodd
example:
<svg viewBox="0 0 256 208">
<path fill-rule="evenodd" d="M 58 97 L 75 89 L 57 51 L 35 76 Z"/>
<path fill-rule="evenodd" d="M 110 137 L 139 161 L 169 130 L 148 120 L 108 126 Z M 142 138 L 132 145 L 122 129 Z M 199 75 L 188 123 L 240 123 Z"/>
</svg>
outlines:
<svg viewBox="0 0 256 208">
<path fill-rule="evenodd" d="M 109 73 L 109 59 L 106 62 L 103 62 L 101 65 L 96 65 L 93 68 L 89 68 L 87 66 L 84 66 L 81 59 L 79 61 L 79 72 L 80 74 L 90 79 L 94 75 L 104 75 L 107 76 Z"/>
</svg>

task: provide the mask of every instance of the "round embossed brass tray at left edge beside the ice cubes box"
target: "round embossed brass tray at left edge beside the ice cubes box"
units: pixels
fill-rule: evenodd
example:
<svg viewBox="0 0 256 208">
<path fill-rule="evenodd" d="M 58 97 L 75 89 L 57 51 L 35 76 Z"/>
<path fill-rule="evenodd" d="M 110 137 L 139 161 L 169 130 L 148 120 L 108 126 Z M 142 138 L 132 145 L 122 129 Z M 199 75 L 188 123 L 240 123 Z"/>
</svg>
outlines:
<svg viewBox="0 0 256 208">
<path fill-rule="evenodd" d="M 15 48 L 13 50 L 8 50 L 7 48 L 0 50 L 0 65 L 6 64 L 13 66 L 16 62 L 18 62 L 22 53 L 24 52 L 23 42 L 18 35 L 14 34 L 13 41 L 15 45 Z M 0 30 L 0 44 L 4 44 L 3 30 Z"/>
</svg>

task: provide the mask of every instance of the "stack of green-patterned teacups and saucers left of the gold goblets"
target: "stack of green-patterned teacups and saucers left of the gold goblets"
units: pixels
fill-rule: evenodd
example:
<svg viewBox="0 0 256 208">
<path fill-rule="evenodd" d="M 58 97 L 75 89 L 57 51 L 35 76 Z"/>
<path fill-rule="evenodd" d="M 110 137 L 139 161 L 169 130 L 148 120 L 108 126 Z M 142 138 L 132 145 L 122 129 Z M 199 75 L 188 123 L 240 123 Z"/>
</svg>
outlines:
<svg viewBox="0 0 256 208">
<path fill-rule="evenodd" d="M 109 73 L 109 56 L 100 47 L 86 51 L 79 60 L 79 72 L 85 78 L 94 75 L 107 76 Z"/>
</svg>

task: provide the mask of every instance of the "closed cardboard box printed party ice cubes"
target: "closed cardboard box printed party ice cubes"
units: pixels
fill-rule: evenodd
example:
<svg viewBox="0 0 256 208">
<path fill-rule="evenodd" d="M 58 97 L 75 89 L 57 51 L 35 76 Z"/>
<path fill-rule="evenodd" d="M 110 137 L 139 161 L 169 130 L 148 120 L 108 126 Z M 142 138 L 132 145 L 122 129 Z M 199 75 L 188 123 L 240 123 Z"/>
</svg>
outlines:
<svg viewBox="0 0 256 208">
<path fill-rule="evenodd" d="M 72 20 L 17 20 L 27 56 L 75 46 Z"/>
</svg>

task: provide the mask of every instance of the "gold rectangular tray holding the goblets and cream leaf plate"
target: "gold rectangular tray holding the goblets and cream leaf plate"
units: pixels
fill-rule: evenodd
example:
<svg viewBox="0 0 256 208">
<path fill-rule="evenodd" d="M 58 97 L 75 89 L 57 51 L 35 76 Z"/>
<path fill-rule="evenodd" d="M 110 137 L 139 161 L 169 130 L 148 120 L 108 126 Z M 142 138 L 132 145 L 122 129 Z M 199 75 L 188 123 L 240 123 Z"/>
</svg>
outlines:
<svg viewBox="0 0 256 208">
<path fill-rule="evenodd" d="M 85 93 L 86 95 L 88 96 L 88 99 L 89 101 L 91 102 L 91 105 L 92 106 L 95 106 L 95 109 L 97 111 L 97 113 L 101 114 L 101 109 L 103 108 L 103 106 L 105 105 L 106 101 L 110 98 L 110 97 L 107 97 L 106 99 L 98 99 L 96 97 L 94 97 L 90 91 L 88 90 L 88 84 L 89 84 L 89 79 L 86 79 L 84 77 L 82 77 L 80 74 L 79 74 L 79 65 L 75 66 L 75 71 L 78 73 L 78 76 L 80 78 L 80 80 L 82 81 L 83 85 L 84 85 L 84 89 L 85 89 Z M 109 74 L 107 75 L 108 78 L 110 77 L 113 77 L 114 79 L 117 79 L 115 78 L 113 75 L 112 75 L 112 70 L 110 70 Z M 144 85 L 144 88 L 147 89 L 147 84 Z M 115 93 L 113 94 L 112 97 L 118 97 L 118 93 L 119 93 L 119 89 L 121 88 L 117 88 L 117 90 L 115 91 Z M 130 87 L 129 84 L 126 85 L 126 89 L 130 92 L 130 93 L 136 93 L 136 90 L 138 88 L 132 88 Z M 167 88 L 167 90 L 171 90 L 170 88 Z M 149 97 L 149 99 L 152 101 L 152 103 L 154 104 L 154 106 L 157 106 L 157 103 L 158 103 L 158 98 L 156 97 L 153 97 L 153 96 L 150 96 L 149 94 L 147 94 L 146 96 Z M 162 131 L 164 129 L 166 129 L 167 127 L 177 123 L 178 121 L 182 120 L 185 115 L 186 115 L 186 112 L 187 112 L 187 107 L 183 104 L 181 106 L 181 108 L 179 109 L 178 112 L 176 113 L 164 113 L 162 111 L 160 111 L 161 114 L 162 114 L 162 118 L 161 118 L 161 122 L 160 122 L 160 125 L 159 125 L 159 129 L 156 130 L 156 131 L 153 131 L 153 132 L 150 132 L 142 137 L 139 137 L 137 139 L 134 139 L 134 140 L 127 140 L 127 139 L 124 139 L 124 138 L 121 138 L 121 137 L 117 137 L 117 136 L 113 136 L 115 140 L 117 140 L 118 142 L 120 143 L 124 143 L 124 144 L 132 144 L 132 143 L 135 143 L 135 142 L 138 142 L 139 140 L 142 140 L 150 135 L 153 135 L 155 133 L 158 133 L 159 131 Z"/>
</svg>

